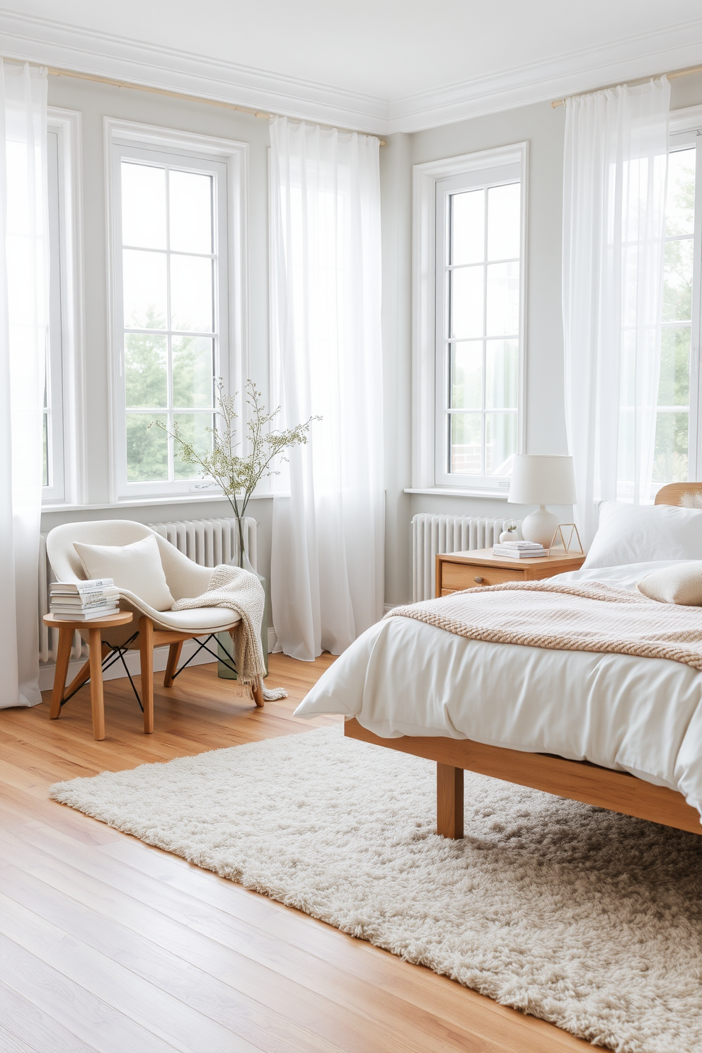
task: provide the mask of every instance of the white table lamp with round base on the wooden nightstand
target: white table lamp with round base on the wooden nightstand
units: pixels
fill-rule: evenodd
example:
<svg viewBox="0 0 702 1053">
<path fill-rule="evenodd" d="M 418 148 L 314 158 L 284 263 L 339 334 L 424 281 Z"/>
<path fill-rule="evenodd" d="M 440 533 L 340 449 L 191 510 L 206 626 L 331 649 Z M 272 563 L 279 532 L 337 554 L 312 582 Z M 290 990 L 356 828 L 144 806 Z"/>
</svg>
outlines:
<svg viewBox="0 0 702 1053">
<path fill-rule="evenodd" d="M 576 477 L 573 457 L 553 454 L 518 454 L 515 457 L 507 501 L 513 504 L 538 504 L 522 522 L 525 541 L 536 541 L 547 549 L 558 530 L 558 516 L 546 504 L 575 504 Z"/>
</svg>

